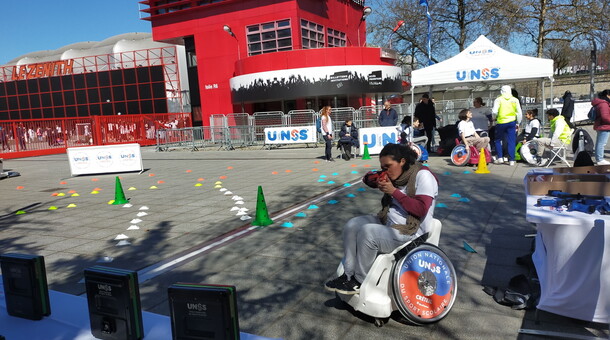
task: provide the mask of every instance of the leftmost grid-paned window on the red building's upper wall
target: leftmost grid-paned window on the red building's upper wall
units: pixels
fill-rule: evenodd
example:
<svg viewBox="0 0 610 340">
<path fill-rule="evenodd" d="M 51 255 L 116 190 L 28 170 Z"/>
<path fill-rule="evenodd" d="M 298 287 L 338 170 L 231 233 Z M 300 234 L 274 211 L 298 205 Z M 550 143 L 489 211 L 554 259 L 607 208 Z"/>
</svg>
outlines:
<svg viewBox="0 0 610 340">
<path fill-rule="evenodd" d="M 246 27 L 248 55 L 292 50 L 290 20 Z"/>
</svg>

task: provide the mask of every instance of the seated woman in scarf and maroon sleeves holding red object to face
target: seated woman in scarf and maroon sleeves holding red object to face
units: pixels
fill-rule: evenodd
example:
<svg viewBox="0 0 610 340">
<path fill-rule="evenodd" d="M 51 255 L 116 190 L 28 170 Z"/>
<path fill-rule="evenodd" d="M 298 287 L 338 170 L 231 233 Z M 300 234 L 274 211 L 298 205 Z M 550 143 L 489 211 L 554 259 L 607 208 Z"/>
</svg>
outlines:
<svg viewBox="0 0 610 340">
<path fill-rule="evenodd" d="M 378 254 L 387 254 L 432 228 L 436 177 L 416 162 L 409 147 L 388 144 L 379 153 L 380 172 L 369 172 L 363 182 L 383 192 L 377 216 L 351 218 L 343 228 L 344 274 L 325 288 L 356 294 Z"/>
</svg>

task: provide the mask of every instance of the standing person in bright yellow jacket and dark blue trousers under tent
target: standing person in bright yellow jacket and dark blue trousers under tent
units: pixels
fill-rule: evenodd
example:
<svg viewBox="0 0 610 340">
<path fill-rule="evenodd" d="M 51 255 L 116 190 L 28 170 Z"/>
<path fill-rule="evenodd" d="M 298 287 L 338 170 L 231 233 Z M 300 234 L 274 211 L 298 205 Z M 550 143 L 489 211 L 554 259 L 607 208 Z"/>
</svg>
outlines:
<svg viewBox="0 0 610 340">
<path fill-rule="evenodd" d="M 521 123 L 521 104 L 519 99 L 513 97 L 509 85 L 502 86 L 500 96 L 494 100 L 491 110 L 496 117 L 494 144 L 496 147 L 495 164 L 504 163 L 502 146 L 506 136 L 506 147 L 508 150 L 508 164 L 515 165 L 515 145 L 517 139 L 517 125 Z"/>
</svg>

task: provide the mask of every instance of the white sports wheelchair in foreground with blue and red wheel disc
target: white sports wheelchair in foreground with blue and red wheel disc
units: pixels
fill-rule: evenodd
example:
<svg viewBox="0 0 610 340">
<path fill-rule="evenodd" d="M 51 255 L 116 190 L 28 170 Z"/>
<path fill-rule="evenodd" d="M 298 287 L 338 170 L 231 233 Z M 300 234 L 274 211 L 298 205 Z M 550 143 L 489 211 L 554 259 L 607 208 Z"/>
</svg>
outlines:
<svg viewBox="0 0 610 340">
<path fill-rule="evenodd" d="M 438 248 L 441 228 L 441 222 L 434 219 L 432 231 L 378 255 L 358 293 L 337 295 L 354 310 L 372 316 L 377 327 L 395 310 L 415 325 L 440 321 L 457 294 L 453 264 Z M 337 276 L 343 272 L 341 262 Z"/>
</svg>

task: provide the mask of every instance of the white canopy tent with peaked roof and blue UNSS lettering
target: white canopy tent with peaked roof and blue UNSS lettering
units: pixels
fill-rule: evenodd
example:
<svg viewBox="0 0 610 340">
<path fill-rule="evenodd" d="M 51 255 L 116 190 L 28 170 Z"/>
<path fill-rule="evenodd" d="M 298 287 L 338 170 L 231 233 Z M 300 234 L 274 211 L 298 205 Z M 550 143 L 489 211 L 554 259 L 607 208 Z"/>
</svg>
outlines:
<svg viewBox="0 0 610 340">
<path fill-rule="evenodd" d="M 411 72 L 411 103 L 414 103 L 416 87 L 429 86 L 432 91 L 504 85 L 532 79 L 543 81 L 544 111 L 544 81 L 547 79 L 551 82 L 551 102 L 553 98 L 553 60 L 508 52 L 481 35 L 458 55 Z M 415 105 L 412 108 L 414 110 Z"/>
</svg>

